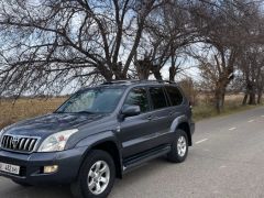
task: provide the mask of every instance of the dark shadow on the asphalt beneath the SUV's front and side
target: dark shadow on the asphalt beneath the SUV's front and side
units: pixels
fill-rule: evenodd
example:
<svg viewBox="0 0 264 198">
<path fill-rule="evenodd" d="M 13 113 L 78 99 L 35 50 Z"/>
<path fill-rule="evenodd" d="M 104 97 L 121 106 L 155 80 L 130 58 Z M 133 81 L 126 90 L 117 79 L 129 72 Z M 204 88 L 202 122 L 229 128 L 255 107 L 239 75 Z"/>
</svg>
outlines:
<svg viewBox="0 0 264 198">
<path fill-rule="evenodd" d="M 150 178 L 153 174 L 166 170 L 172 166 L 165 157 L 160 157 L 142 164 L 140 167 L 129 172 L 123 179 L 117 179 L 109 198 L 123 197 L 122 189 L 136 185 L 141 177 Z M 146 168 L 147 167 L 147 168 Z M 73 198 L 69 186 L 33 186 L 21 187 L 9 179 L 0 182 L 0 197 L 4 198 Z"/>
</svg>

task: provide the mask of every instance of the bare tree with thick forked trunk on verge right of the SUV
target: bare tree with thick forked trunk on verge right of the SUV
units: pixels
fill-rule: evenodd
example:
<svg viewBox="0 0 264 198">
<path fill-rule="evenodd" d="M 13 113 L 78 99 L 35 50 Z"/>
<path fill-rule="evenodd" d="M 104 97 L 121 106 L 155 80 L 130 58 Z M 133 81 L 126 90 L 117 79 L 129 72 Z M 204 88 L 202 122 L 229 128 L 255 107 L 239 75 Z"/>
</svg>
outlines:
<svg viewBox="0 0 264 198">
<path fill-rule="evenodd" d="M 227 87 L 234 78 L 241 46 L 249 38 L 248 22 L 253 20 L 255 7 L 246 2 L 219 3 L 219 9 L 216 9 L 215 4 L 199 2 L 191 10 L 193 21 L 200 31 L 200 41 L 206 44 L 211 57 L 209 62 L 199 55 L 196 58 L 201 61 L 202 76 L 213 81 L 216 108 L 220 113 Z"/>
</svg>

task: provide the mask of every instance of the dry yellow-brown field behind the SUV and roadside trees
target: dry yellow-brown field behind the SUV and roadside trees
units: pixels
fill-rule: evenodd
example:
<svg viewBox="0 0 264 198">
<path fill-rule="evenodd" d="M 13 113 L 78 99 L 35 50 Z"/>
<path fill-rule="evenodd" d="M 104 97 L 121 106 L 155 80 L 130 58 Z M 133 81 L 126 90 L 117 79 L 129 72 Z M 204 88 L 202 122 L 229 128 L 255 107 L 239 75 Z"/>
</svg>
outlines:
<svg viewBox="0 0 264 198">
<path fill-rule="evenodd" d="M 242 107 L 242 98 L 243 95 L 227 96 L 226 108 L 222 114 L 253 108 L 249 106 Z M 0 129 L 23 119 L 53 112 L 65 100 L 66 98 L 22 98 L 16 101 L 8 99 L 0 100 Z M 209 105 L 208 100 L 205 96 L 197 97 L 196 106 L 194 107 L 196 121 L 217 116 L 213 106 Z"/>
</svg>

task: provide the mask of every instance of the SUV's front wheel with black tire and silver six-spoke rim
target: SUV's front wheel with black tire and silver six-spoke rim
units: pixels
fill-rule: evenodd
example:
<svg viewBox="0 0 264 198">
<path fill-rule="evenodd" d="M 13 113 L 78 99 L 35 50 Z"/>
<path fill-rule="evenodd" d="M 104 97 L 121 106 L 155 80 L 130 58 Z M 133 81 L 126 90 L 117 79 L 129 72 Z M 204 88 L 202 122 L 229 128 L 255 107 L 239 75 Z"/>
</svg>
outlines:
<svg viewBox="0 0 264 198">
<path fill-rule="evenodd" d="M 70 185 L 70 189 L 78 198 L 106 198 L 113 187 L 114 179 L 116 166 L 111 155 L 94 150 L 82 163 L 78 178 Z"/>
</svg>

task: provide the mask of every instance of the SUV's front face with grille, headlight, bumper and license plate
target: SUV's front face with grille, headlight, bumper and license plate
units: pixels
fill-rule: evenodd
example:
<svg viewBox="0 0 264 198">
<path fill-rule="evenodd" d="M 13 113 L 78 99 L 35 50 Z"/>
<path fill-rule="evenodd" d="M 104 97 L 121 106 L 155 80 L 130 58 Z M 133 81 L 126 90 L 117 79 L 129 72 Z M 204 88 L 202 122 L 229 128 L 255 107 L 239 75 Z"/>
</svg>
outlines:
<svg viewBox="0 0 264 198">
<path fill-rule="evenodd" d="M 65 184 L 75 179 L 86 147 L 66 143 L 78 130 L 53 133 L 46 138 L 2 131 L 0 175 L 25 184 Z"/>
</svg>

